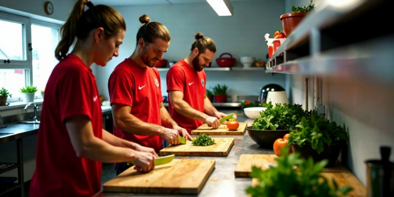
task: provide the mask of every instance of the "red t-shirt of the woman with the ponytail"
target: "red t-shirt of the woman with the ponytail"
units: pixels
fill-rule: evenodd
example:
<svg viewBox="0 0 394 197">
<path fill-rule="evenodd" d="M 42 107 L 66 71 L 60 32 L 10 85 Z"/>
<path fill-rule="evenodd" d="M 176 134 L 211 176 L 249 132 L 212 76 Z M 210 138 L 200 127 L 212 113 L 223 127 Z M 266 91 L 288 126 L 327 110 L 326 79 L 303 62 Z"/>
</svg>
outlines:
<svg viewBox="0 0 394 197">
<path fill-rule="evenodd" d="M 103 139 L 103 115 L 95 77 L 80 58 L 58 63 L 45 88 L 38 129 L 35 171 L 30 196 L 91 196 L 101 190 L 101 162 L 77 157 L 65 120 L 90 119 L 93 134 Z"/>
</svg>

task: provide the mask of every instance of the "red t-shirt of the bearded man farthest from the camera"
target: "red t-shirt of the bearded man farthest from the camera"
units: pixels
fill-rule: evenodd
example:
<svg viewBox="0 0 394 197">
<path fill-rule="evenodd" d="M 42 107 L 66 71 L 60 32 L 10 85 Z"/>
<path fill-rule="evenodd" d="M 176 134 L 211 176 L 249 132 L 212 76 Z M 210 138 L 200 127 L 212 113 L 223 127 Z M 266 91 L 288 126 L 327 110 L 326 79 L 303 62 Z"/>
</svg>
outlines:
<svg viewBox="0 0 394 197">
<path fill-rule="evenodd" d="M 167 92 L 175 90 L 183 92 L 183 100 L 193 109 L 204 113 L 204 94 L 207 76 L 205 71 L 197 72 L 184 60 L 174 64 L 167 73 Z M 172 109 L 171 98 L 168 95 L 168 112 L 179 126 L 189 133 L 203 124 L 202 121 L 192 120 Z"/>
</svg>

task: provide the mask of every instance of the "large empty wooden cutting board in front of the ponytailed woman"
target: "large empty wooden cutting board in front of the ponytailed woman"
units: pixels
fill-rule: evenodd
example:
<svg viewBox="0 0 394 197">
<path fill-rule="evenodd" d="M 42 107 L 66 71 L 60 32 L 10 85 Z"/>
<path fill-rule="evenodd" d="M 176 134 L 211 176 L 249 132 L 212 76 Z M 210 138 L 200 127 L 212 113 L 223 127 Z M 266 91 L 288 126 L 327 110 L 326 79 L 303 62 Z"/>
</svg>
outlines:
<svg viewBox="0 0 394 197">
<path fill-rule="evenodd" d="M 172 160 L 148 173 L 132 167 L 103 185 L 106 192 L 200 193 L 215 167 L 214 160 Z"/>
</svg>

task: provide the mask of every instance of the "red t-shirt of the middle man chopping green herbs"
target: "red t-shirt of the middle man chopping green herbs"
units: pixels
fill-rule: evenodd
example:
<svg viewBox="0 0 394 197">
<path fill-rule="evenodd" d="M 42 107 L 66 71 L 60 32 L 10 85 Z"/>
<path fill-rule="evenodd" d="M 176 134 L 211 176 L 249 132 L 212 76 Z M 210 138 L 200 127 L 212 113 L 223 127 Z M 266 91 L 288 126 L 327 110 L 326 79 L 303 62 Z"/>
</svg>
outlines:
<svg viewBox="0 0 394 197">
<path fill-rule="evenodd" d="M 162 125 L 160 102 L 163 101 L 160 74 L 156 68 L 142 67 L 130 58 L 126 58 L 113 70 L 108 81 L 111 105 L 119 103 L 131 107 L 130 114 L 141 121 Z M 153 148 L 159 152 L 163 148 L 163 139 L 159 135 L 136 135 L 117 129 L 113 125 L 113 134 Z"/>
</svg>

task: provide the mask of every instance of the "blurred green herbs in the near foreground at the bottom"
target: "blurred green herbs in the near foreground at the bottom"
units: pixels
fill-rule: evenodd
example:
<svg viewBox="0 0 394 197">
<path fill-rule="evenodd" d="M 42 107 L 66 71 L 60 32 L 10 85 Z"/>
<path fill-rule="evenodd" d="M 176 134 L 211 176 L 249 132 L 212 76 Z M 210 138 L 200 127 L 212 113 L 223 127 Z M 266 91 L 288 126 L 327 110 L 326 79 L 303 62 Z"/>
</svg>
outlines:
<svg viewBox="0 0 394 197">
<path fill-rule="evenodd" d="M 319 174 L 328 160 L 314 164 L 311 157 L 305 160 L 300 159 L 298 152 L 288 154 L 289 148 L 290 146 L 284 147 L 282 155 L 275 158 L 277 167 L 267 170 L 252 167 L 250 176 L 258 179 L 259 185 L 248 187 L 247 194 L 252 197 L 338 197 L 353 190 L 348 186 L 339 188 L 334 179 L 332 185 L 329 185 L 328 180 Z M 294 170 L 293 166 L 298 169 Z"/>
</svg>

